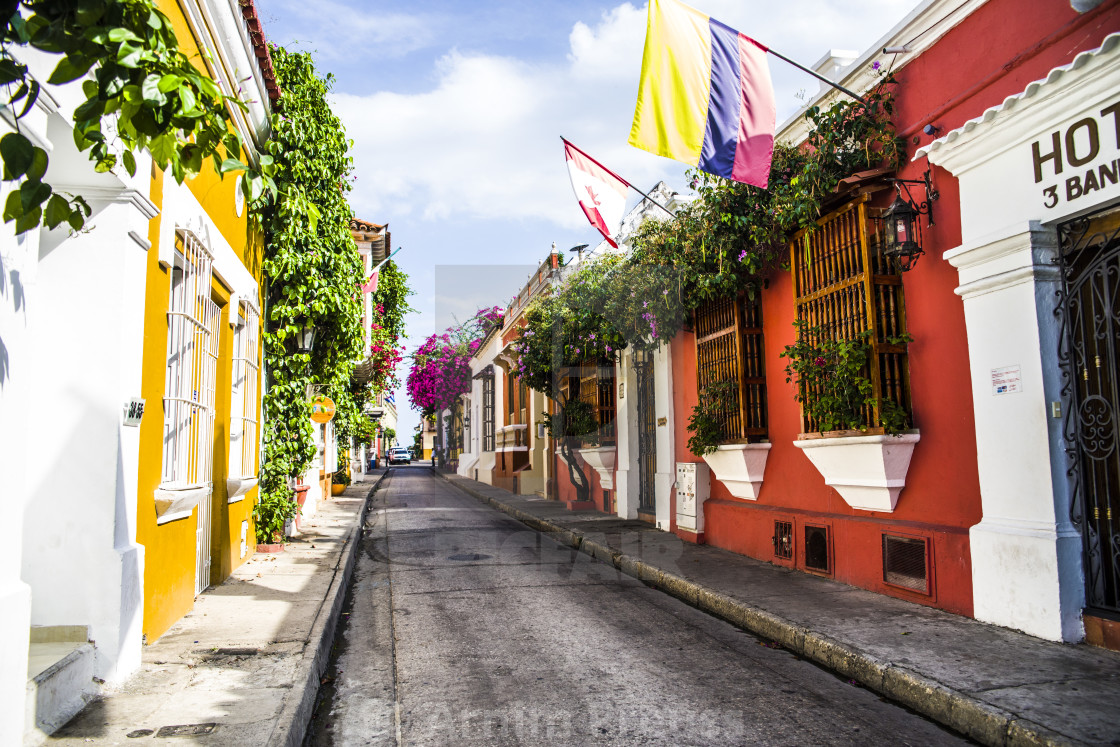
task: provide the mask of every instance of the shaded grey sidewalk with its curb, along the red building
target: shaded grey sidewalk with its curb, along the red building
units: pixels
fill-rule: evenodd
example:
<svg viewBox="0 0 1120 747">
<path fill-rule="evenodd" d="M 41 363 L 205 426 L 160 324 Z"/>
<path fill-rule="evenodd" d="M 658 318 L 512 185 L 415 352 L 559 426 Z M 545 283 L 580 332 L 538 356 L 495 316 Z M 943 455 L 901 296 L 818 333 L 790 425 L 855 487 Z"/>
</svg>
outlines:
<svg viewBox="0 0 1120 747">
<path fill-rule="evenodd" d="M 1120 744 L 1120 654 L 1048 643 L 691 544 L 642 522 L 442 476 L 561 543 L 982 744 Z"/>
</svg>

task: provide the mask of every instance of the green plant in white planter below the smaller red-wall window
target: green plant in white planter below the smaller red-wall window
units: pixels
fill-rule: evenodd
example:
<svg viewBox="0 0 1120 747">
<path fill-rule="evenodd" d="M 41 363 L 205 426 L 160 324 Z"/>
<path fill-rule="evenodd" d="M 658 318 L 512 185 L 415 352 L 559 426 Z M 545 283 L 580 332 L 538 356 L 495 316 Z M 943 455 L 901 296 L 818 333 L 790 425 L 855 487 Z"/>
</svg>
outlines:
<svg viewBox="0 0 1120 747">
<path fill-rule="evenodd" d="M 701 457 L 712 474 L 737 498 L 757 501 L 766 471 L 771 445 L 727 443 L 726 413 L 739 407 L 738 382 L 722 380 L 700 390 L 699 402 L 689 418 L 689 450 Z"/>
</svg>

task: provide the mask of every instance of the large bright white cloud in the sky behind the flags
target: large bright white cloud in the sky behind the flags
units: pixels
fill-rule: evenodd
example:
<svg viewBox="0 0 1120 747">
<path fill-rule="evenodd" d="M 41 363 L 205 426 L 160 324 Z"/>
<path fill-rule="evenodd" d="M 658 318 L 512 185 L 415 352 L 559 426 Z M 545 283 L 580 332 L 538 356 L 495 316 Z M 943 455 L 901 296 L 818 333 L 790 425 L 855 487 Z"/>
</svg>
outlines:
<svg viewBox="0 0 1120 747">
<path fill-rule="evenodd" d="M 699 3 L 697 3 L 699 4 Z M 862 49 L 900 20 L 914 0 L 708 0 L 704 11 L 805 64 L 830 47 Z M 371 220 L 544 220 L 577 227 L 559 136 L 635 185 L 681 181 L 683 165 L 626 143 L 637 92 L 645 8 L 617 6 L 577 22 L 569 53 L 554 63 L 450 50 L 436 85 L 417 94 L 336 94 L 354 140 L 357 187 L 352 202 Z M 799 90 L 818 83 L 771 60 L 778 118 L 793 113 Z"/>
</svg>

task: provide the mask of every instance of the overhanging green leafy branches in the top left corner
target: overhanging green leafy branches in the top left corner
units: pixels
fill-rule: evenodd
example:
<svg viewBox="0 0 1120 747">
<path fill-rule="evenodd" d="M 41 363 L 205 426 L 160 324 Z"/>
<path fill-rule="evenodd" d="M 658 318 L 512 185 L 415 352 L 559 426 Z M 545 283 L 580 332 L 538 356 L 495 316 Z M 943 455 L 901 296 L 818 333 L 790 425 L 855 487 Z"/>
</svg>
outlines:
<svg viewBox="0 0 1120 747">
<path fill-rule="evenodd" d="M 0 86 L 7 91 L 0 115 L 15 128 L 0 138 L 0 159 L 3 180 L 19 184 L 4 202 L 3 220 L 15 222 L 17 233 L 64 223 L 78 231 L 91 214 L 81 196 L 57 193 L 44 180 L 47 151 L 21 124 L 41 83 L 20 59 L 21 47 L 58 55 L 47 83 L 84 78 L 74 143 L 88 151 L 96 171 L 123 167 L 136 176 L 134 153 L 146 149 L 180 184 L 208 160 L 221 175 L 248 171 L 243 188 L 251 203 L 274 193 L 270 156 L 255 169 L 241 160 L 244 143 L 230 112 L 244 103 L 199 72 L 202 60 L 180 50 L 170 20 L 151 0 L 3 0 L 0 15 Z"/>
</svg>

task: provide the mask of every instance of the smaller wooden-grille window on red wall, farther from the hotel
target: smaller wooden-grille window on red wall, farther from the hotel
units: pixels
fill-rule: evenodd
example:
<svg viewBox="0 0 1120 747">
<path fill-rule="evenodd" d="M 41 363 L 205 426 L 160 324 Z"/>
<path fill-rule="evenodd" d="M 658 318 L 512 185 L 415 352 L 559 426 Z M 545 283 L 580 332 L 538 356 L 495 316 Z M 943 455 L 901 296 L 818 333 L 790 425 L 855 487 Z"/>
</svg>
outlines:
<svg viewBox="0 0 1120 747">
<path fill-rule="evenodd" d="M 702 304 L 696 312 L 697 390 L 730 382 L 732 393 L 717 415 L 728 442 L 767 437 L 763 309 L 746 293 Z"/>
</svg>

